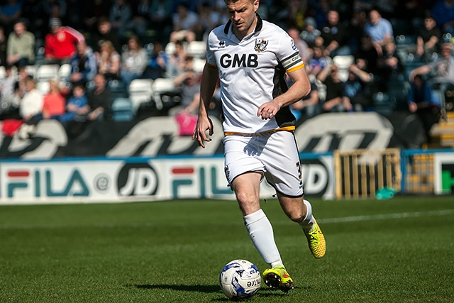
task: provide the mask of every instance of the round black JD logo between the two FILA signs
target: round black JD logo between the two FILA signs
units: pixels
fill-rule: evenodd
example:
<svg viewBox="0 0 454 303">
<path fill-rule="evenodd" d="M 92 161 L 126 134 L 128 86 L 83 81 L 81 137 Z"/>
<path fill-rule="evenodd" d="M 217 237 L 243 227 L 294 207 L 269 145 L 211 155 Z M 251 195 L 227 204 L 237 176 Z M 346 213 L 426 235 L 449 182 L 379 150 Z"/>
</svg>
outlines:
<svg viewBox="0 0 454 303">
<path fill-rule="evenodd" d="M 157 191 L 157 174 L 148 163 L 127 163 L 118 173 L 118 194 L 153 196 Z"/>
</svg>

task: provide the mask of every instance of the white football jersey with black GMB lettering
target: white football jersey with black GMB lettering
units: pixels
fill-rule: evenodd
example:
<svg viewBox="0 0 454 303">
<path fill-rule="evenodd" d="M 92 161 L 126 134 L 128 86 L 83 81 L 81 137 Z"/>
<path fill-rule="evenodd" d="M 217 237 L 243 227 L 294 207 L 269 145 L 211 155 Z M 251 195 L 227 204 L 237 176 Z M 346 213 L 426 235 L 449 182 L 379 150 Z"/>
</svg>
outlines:
<svg viewBox="0 0 454 303">
<path fill-rule="evenodd" d="M 209 34 L 206 60 L 219 70 L 224 133 L 294 129 L 289 106 L 270 120 L 257 116 L 262 104 L 287 92 L 285 72 L 304 67 L 298 48 L 282 28 L 258 16 L 255 31 L 238 40 L 229 20 Z"/>
</svg>

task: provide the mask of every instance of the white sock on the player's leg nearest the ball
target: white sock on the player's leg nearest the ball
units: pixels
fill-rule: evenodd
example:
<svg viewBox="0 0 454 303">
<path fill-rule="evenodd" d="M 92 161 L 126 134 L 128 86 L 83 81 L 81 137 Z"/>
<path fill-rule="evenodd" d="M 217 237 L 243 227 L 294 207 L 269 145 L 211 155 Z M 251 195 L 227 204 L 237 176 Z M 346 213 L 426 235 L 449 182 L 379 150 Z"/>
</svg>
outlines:
<svg viewBox="0 0 454 303">
<path fill-rule="evenodd" d="M 246 229 L 248 229 L 250 239 L 263 260 L 270 264 L 272 268 L 284 266 L 279 250 L 277 250 L 270 220 L 268 220 L 262 209 L 244 216 L 244 224 Z"/>
</svg>

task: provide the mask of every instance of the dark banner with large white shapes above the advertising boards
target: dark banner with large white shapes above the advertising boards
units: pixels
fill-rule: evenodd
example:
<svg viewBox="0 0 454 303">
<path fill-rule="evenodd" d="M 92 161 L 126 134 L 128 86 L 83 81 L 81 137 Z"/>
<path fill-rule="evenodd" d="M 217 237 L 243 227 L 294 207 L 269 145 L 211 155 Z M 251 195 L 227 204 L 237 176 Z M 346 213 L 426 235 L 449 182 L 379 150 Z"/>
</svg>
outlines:
<svg viewBox="0 0 454 303">
<path fill-rule="evenodd" d="M 297 126 L 295 136 L 301 153 L 411 148 L 423 131 L 409 117 L 384 117 L 375 112 L 321 114 Z M 43 120 L 30 138 L 24 139 L 17 133 L 13 136 L 0 133 L 0 158 L 50 160 L 222 155 L 221 121 L 211 118 L 214 135 L 206 148 L 199 148 L 190 137 L 178 136 L 177 123 L 170 116 L 131 122 L 82 122 L 66 129 L 58 121 Z M 406 121 L 405 125 L 402 121 Z"/>
</svg>

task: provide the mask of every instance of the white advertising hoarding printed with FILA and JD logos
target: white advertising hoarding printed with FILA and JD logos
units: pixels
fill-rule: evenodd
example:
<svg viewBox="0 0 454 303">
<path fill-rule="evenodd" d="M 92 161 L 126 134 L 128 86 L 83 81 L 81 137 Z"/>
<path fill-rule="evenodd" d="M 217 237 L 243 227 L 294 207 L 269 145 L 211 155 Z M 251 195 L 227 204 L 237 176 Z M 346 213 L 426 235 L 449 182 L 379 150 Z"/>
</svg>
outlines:
<svg viewBox="0 0 454 303">
<path fill-rule="evenodd" d="M 333 199 L 332 155 L 302 160 L 307 196 Z M 261 184 L 261 197 L 275 194 Z M 20 160 L 0 163 L 0 204 L 235 199 L 223 157 Z"/>
</svg>

